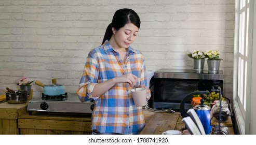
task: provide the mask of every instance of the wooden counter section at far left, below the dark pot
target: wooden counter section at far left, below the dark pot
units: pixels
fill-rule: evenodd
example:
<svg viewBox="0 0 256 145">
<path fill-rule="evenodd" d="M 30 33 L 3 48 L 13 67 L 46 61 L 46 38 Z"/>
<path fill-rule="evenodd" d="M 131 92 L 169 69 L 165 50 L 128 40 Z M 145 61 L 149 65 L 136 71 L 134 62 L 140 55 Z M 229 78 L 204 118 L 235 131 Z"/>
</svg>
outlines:
<svg viewBox="0 0 256 145">
<path fill-rule="evenodd" d="M 0 135 L 18 135 L 18 117 L 27 113 L 24 104 L 8 104 L 7 102 L 0 104 Z"/>
</svg>

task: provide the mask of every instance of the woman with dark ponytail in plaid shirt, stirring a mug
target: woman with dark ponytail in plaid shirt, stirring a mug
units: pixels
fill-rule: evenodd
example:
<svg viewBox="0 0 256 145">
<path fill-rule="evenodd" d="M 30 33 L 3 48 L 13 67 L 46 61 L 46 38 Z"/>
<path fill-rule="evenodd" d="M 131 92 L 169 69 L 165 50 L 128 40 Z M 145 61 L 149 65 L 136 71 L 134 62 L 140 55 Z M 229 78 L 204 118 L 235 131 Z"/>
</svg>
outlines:
<svg viewBox="0 0 256 145">
<path fill-rule="evenodd" d="M 142 107 L 134 105 L 130 93 L 134 86 L 147 88 L 143 54 L 130 47 L 139 28 L 135 11 L 117 10 L 102 45 L 87 56 L 77 94 L 82 102 L 95 100 L 91 129 L 100 133 L 139 134 L 145 126 Z"/>
</svg>

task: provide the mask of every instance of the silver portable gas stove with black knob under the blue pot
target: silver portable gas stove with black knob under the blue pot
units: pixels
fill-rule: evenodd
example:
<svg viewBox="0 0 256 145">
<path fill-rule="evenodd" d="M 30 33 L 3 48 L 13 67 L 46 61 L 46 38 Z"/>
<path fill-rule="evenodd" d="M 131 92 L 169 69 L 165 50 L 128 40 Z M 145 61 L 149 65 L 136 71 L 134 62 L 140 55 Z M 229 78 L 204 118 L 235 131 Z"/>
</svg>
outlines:
<svg viewBox="0 0 256 145">
<path fill-rule="evenodd" d="M 42 97 L 29 100 L 28 111 L 55 112 L 66 114 L 91 114 L 94 103 L 86 101 L 82 103 L 78 96 L 68 97 L 65 93 L 59 96 L 48 96 L 42 94 Z"/>
</svg>

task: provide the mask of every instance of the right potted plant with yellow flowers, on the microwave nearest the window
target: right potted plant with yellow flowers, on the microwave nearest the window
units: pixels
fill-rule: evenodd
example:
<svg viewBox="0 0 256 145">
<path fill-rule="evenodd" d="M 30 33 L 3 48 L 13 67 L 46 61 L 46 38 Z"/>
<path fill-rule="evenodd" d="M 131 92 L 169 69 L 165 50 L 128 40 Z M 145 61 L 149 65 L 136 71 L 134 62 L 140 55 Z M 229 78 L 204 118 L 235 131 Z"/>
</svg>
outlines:
<svg viewBox="0 0 256 145">
<path fill-rule="evenodd" d="M 205 57 L 207 58 L 207 65 L 209 72 L 219 72 L 221 60 L 220 51 L 218 50 L 210 50 L 206 51 Z"/>
</svg>

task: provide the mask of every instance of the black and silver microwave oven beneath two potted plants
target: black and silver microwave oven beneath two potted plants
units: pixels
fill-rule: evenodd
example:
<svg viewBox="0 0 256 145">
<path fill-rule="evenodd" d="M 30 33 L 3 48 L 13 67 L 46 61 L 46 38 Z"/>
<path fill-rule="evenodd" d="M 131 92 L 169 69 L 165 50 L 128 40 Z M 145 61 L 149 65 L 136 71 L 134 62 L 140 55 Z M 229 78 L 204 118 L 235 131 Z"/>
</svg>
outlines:
<svg viewBox="0 0 256 145">
<path fill-rule="evenodd" d="M 218 86 L 223 88 L 222 70 L 212 74 L 205 70 L 198 73 L 193 69 L 161 69 L 154 72 L 152 79 L 151 85 L 154 86 L 152 106 L 155 109 L 180 109 L 180 103 L 188 93 L 194 91 L 219 93 Z M 191 100 L 186 100 L 185 109 L 190 108 L 192 108 Z"/>
</svg>

